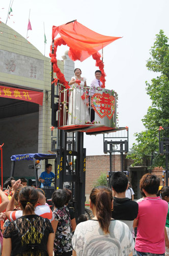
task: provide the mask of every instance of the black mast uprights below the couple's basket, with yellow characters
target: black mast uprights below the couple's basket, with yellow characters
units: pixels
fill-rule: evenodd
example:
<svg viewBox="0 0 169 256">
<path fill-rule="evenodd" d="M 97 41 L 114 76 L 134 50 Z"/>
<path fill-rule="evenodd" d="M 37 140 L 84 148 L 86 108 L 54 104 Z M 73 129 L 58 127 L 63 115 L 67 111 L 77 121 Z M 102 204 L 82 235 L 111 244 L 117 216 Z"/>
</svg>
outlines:
<svg viewBox="0 0 169 256">
<path fill-rule="evenodd" d="M 60 130 L 57 148 L 57 164 L 55 166 L 56 189 L 63 188 L 64 182 L 71 183 L 75 217 L 85 214 L 85 180 L 86 180 L 86 148 L 83 148 L 83 133 L 76 132 L 75 143 L 67 141 L 67 133 Z M 74 148 L 75 146 L 75 148 Z M 72 149 L 72 150 L 71 150 Z M 67 158 L 73 158 L 75 166 L 69 170 Z M 68 172 L 67 172 L 68 168 Z"/>
</svg>

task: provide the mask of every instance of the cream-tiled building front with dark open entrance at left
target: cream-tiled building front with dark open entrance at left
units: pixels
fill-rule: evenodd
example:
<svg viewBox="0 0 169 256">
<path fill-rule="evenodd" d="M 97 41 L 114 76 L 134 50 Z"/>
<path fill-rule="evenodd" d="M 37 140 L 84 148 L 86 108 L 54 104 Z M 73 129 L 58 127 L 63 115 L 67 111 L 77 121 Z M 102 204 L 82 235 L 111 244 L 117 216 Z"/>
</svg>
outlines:
<svg viewBox="0 0 169 256">
<path fill-rule="evenodd" d="M 69 81 L 74 62 L 67 52 L 63 60 L 58 60 L 58 66 Z M 5 98 L 0 95 L 0 145 L 4 143 L 3 169 L 6 179 L 10 176 L 12 155 L 48 154 L 51 150 L 51 65 L 50 58 L 43 56 L 29 41 L 4 23 L 1 23 L 0 86 L 2 93 L 6 93 Z M 7 95 L 7 88 L 42 92 L 43 104 L 22 100 L 19 95 L 11 98 L 10 94 Z M 25 161 L 16 163 L 15 177 L 34 176 L 33 170 L 27 166 Z M 44 168 L 42 163 L 40 172 Z"/>
</svg>

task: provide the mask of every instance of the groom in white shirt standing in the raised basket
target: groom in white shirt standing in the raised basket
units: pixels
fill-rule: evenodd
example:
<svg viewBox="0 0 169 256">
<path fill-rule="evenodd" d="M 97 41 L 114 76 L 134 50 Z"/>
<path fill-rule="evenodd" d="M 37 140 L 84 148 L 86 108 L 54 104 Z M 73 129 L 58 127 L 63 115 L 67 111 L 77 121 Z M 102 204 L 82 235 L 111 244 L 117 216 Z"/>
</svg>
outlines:
<svg viewBox="0 0 169 256">
<path fill-rule="evenodd" d="M 100 81 L 101 71 L 95 71 L 95 79 L 91 82 L 90 86 L 90 108 L 91 108 L 91 122 L 95 120 L 95 111 L 91 106 L 91 97 L 96 93 L 96 88 L 101 88 L 102 82 Z"/>
</svg>

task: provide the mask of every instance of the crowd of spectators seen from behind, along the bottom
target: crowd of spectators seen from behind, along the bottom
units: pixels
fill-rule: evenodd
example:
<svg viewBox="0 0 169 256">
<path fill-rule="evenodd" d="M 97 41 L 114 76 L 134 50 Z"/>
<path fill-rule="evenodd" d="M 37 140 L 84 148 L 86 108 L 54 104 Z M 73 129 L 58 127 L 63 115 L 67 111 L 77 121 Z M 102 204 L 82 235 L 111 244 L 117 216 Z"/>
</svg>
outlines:
<svg viewBox="0 0 169 256">
<path fill-rule="evenodd" d="M 10 177 L 0 187 L 0 255 L 169 255 L 169 186 L 159 189 L 159 178 L 145 174 L 136 202 L 124 173 L 112 173 L 110 183 L 92 189 L 94 218 L 82 214 L 76 226 L 71 190 L 55 190 L 51 210 L 43 189 Z"/>
</svg>

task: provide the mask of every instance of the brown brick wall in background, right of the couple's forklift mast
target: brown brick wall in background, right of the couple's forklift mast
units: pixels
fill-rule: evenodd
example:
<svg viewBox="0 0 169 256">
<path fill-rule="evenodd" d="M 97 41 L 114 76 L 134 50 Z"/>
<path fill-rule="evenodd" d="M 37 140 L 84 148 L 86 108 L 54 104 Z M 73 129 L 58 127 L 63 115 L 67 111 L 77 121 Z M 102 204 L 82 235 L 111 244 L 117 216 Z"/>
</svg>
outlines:
<svg viewBox="0 0 169 256">
<path fill-rule="evenodd" d="M 120 157 L 120 155 L 112 155 L 112 170 L 116 172 L 121 171 Z M 101 173 L 108 173 L 110 169 L 110 156 L 87 156 L 86 159 L 86 195 L 89 195 Z M 126 155 L 123 155 L 124 170 L 129 170 L 128 166 L 131 163 L 132 160 L 126 159 Z"/>
</svg>

